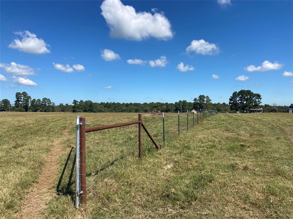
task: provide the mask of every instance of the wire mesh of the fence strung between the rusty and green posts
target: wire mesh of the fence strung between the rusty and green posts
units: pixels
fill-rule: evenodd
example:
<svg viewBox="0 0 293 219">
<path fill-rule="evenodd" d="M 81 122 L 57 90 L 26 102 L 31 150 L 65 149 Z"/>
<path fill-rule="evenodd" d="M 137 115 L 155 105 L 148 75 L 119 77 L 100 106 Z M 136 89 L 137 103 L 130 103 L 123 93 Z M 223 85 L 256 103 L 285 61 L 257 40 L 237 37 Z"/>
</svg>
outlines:
<svg viewBox="0 0 293 219">
<path fill-rule="evenodd" d="M 198 112 L 198 113 L 197 113 Z M 219 112 L 208 109 L 167 112 L 163 115 L 142 115 L 142 121 L 158 145 L 172 141 L 190 130 L 200 121 Z M 88 127 L 103 126 L 136 120 L 137 116 L 87 120 Z M 86 175 L 96 175 L 109 164 L 126 157 L 138 157 L 138 124 L 93 131 L 86 134 Z M 143 154 L 153 150 L 154 145 L 142 131 Z"/>
</svg>

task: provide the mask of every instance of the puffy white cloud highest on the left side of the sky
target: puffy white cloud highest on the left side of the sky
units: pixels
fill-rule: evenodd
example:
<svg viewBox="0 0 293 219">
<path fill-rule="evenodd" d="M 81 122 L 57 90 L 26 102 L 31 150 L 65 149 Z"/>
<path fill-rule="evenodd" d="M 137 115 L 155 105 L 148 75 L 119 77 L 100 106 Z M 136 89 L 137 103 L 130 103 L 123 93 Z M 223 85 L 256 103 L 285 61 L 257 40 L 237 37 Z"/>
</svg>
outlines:
<svg viewBox="0 0 293 219">
<path fill-rule="evenodd" d="M 22 39 L 15 39 L 11 42 L 11 44 L 9 44 L 8 47 L 18 49 L 19 51 L 23 51 L 25 53 L 50 53 L 50 50 L 47 48 L 47 46 L 50 45 L 46 44 L 43 39 L 37 38 L 36 34 L 30 33 L 27 30 L 23 32 L 14 32 L 14 34 L 20 35 Z"/>
</svg>

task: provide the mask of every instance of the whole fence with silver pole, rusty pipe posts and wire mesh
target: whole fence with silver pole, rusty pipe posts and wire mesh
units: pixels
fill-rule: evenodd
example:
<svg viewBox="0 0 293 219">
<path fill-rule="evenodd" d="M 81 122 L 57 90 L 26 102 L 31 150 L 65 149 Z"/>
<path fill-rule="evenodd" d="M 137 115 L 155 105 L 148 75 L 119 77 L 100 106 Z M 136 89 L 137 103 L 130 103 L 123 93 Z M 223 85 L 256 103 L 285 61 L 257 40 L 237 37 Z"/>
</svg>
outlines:
<svg viewBox="0 0 293 219">
<path fill-rule="evenodd" d="M 142 158 L 142 154 L 151 152 L 154 146 L 159 149 L 181 133 L 198 125 L 200 121 L 217 113 L 219 112 L 214 110 L 196 109 L 155 115 L 139 114 L 138 120 L 129 122 L 135 119 L 131 114 L 117 119 L 87 121 L 91 123 L 86 123 L 84 117 L 77 116 L 75 207 L 78 208 L 80 203 L 86 204 L 86 191 L 90 188 L 86 188 L 87 176 L 100 173 L 101 170 L 123 157 Z M 125 120 L 128 122 L 121 123 Z M 113 122 L 116 123 L 108 125 Z M 86 128 L 86 125 L 91 127 Z"/>
</svg>

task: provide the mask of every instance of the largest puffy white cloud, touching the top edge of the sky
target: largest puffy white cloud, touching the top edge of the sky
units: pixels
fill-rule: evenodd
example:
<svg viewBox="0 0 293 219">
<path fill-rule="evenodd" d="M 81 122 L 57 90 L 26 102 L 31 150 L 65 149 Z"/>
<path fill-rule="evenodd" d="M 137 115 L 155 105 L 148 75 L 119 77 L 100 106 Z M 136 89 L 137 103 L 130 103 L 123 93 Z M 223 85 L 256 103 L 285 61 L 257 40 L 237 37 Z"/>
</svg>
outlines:
<svg viewBox="0 0 293 219">
<path fill-rule="evenodd" d="M 140 11 L 129 5 L 123 5 L 120 0 L 105 0 L 101 5 L 102 15 L 113 38 L 137 40 L 154 37 L 168 40 L 173 37 L 171 24 L 163 13 L 154 14 Z"/>
</svg>

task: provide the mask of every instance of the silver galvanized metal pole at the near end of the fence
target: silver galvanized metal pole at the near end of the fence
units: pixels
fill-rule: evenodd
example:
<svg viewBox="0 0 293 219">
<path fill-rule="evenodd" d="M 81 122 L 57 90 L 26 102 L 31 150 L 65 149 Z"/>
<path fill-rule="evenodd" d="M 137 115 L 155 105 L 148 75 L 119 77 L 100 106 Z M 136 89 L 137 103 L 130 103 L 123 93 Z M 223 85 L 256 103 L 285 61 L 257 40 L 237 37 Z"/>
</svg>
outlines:
<svg viewBox="0 0 293 219">
<path fill-rule="evenodd" d="M 79 206 L 79 192 L 80 192 L 80 152 L 79 152 L 79 142 L 80 142 L 80 121 L 79 116 L 76 116 L 76 147 L 75 147 L 75 207 Z"/>
</svg>

